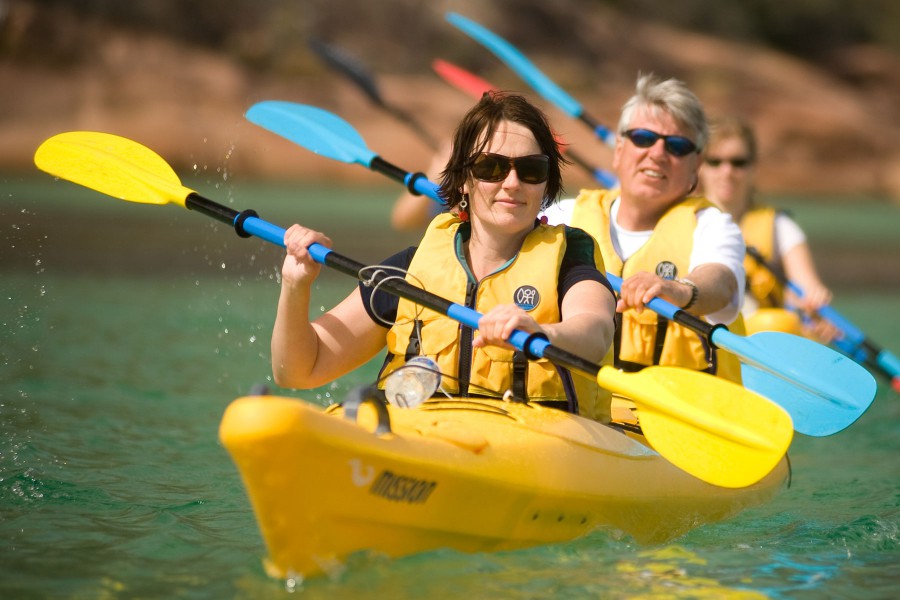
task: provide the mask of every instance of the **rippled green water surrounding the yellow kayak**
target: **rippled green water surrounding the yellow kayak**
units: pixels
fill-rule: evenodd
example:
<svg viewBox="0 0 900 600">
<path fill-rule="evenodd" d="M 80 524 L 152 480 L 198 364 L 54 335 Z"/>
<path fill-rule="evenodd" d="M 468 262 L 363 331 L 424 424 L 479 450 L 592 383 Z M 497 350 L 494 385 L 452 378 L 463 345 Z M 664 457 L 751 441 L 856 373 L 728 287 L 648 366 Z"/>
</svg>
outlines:
<svg viewBox="0 0 900 600">
<path fill-rule="evenodd" d="M 335 579 L 270 579 L 217 428 L 232 399 L 269 382 L 280 253 L 182 209 L 111 201 L 64 183 L 0 181 L 2 598 L 896 595 L 900 397 L 883 382 L 850 429 L 797 436 L 790 489 L 671 544 L 597 533 L 496 554 L 358 556 Z M 327 188 L 202 191 L 282 225 L 303 219 L 326 229 L 339 251 L 361 261 L 408 243 L 387 228 L 392 188 L 364 200 Z M 859 227 L 867 206 L 829 205 L 813 241 L 839 232 L 843 245 L 866 249 L 872 236 Z M 799 218 L 818 214 L 797 207 Z M 897 230 L 883 222 L 900 224 L 900 211 L 869 208 L 878 232 Z M 881 259 L 896 273 L 896 237 L 880 235 Z M 352 282 L 323 273 L 319 285 L 328 307 Z M 844 282 L 836 298 L 846 316 L 900 352 L 896 280 Z M 371 373 L 304 396 L 327 404 Z"/>
</svg>

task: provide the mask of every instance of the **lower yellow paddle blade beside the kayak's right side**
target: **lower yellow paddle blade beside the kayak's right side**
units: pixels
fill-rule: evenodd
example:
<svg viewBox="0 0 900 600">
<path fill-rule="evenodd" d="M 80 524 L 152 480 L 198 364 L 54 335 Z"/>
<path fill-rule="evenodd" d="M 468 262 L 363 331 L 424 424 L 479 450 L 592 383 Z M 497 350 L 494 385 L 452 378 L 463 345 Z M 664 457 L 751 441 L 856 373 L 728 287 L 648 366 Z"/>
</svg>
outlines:
<svg viewBox="0 0 900 600">
<path fill-rule="evenodd" d="M 765 477 L 794 434 L 783 408 L 740 385 L 678 367 L 623 373 L 603 367 L 597 381 L 637 405 L 647 441 L 669 462 L 720 487 Z"/>
</svg>

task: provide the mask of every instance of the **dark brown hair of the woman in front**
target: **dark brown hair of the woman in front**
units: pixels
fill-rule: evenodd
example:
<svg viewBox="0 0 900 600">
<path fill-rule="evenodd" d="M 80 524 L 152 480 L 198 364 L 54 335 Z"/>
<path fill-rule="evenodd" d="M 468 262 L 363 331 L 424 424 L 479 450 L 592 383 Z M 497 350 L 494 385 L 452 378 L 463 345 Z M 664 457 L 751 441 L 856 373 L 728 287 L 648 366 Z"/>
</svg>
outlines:
<svg viewBox="0 0 900 600">
<path fill-rule="evenodd" d="M 497 131 L 501 121 L 519 123 L 531 131 L 542 154 L 550 159 L 547 187 L 542 207 L 556 201 L 563 192 L 562 165 L 568 164 L 550 129 L 546 115 L 524 96 L 508 92 L 486 92 L 463 117 L 453 135 L 453 149 L 441 174 L 440 196 L 453 208 L 462 201 L 469 169 Z"/>
</svg>

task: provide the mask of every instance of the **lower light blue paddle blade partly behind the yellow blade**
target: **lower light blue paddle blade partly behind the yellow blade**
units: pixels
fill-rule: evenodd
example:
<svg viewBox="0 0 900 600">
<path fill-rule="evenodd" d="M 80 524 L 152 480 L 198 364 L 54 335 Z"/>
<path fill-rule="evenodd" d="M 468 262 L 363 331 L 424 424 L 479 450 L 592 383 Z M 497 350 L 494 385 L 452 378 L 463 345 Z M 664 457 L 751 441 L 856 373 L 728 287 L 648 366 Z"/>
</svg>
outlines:
<svg viewBox="0 0 900 600">
<path fill-rule="evenodd" d="M 731 335 L 737 339 L 713 342 L 725 349 L 741 347 L 744 386 L 781 405 L 798 433 L 826 436 L 842 431 L 875 399 L 875 378 L 840 352 L 776 331 L 749 338 Z"/>
</svg>

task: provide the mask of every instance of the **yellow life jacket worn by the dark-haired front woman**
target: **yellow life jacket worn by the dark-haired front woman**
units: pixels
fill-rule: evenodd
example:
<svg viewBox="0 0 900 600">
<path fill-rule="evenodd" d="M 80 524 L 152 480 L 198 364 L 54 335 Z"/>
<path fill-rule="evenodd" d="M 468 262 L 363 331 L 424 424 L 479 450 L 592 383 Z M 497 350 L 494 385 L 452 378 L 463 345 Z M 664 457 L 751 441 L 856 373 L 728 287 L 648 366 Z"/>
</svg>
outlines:
<svg viewBox="0 0 900 600">
<path fill-rule="evenodd" d="M 482 313 L 498 304 L 515 303 L 528 310 L 538 323 L 558 323 L 557 283 L 566 251 L 566 228 L 536 227 L 525 237 L 513 260 L 475 282 L 458 258 L 460 224 L 448 213 L 432 220 L 409 265 L 407 281 Z M 594 260 L 602 273 L 603 262 L 596 243 Z M 404 364 L 408 354 L 423 354 L 438 363 L 445 374 L 441 387 L 449 394 L 501 397 L 511 390 L 529 401 L 556 407 L 568 403 L 573 411 L 577 403 L 582 416 L 609 421 L 610 394 L 595 379 L 580 373 L 570 375 L 546 359 L 528 361 L 521 352 L 511 349 L 472 348 L 472 336 L 468 327 L 401 298 L 396 324 L 387 335 L 388 356 L 381 375 Z M 411 350 L 416 343 L 418 348 Z M 612 362 L 611 352 L 606 362 Z"/>
</svg>

